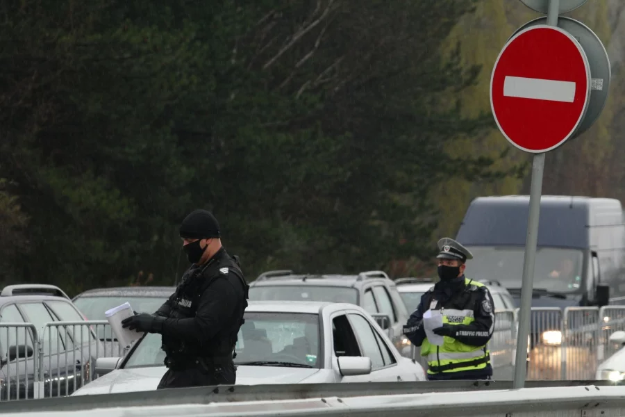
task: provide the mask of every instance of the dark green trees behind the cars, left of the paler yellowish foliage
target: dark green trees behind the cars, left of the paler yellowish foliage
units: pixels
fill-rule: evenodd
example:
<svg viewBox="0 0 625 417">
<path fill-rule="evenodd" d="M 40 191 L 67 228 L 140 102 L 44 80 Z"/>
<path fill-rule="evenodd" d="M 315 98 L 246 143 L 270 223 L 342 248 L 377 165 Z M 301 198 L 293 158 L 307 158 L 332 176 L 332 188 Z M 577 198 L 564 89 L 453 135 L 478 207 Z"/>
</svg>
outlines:
<svg viewBox="0 0 625 417">
<path fill-rule="evenodd" d="M 3 2 L 3 279 L 172 283 L 197 207 L 250 279 L 428 254 L 428 194 L 492 163 L 443 151 L 490 128 L 440 53 L 473 3 Z"/>
</svg>

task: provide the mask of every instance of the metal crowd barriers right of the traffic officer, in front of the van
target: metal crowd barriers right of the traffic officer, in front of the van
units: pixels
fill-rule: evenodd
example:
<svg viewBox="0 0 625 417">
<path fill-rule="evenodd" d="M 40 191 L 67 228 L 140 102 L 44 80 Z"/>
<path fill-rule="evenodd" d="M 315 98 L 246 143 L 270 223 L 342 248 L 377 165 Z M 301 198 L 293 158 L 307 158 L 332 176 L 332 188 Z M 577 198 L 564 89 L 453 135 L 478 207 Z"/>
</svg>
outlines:
<svg viewBox="0 0 625 417">
<path fill-rule="evenodd" d="M 494 379 L 512 379 L 515 366 L 519 309 L 495 312 L 488 344 Z M 610 334 L 625 331 L 625 306 L 533 307 L 528 336 L 528 380 L 593 380 L 601 362 L 622 346 Z M 419 347 L 412 359 L 426 368 Z"/>
</svg>

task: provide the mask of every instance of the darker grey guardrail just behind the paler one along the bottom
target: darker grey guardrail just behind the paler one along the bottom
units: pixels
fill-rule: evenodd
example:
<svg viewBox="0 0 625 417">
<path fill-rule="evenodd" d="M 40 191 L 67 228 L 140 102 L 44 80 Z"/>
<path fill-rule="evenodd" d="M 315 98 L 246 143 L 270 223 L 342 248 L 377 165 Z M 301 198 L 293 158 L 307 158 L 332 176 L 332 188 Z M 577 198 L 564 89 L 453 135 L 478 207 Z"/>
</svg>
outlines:
<svg viewBox="0 0 625 417">
<path fill-rule="evenodd" d="M 603 389 L 604 387 L 608 388 L 613 386 L 613 383 L 608 381 L 526 382 L 527 389 L 553 389 L 591 385 Z M 11 401 L 2 404 L 0 414 L 17 412 L 36 413 L 43 411 L 62 411 L 64 413 L 81 411 L 84 413 L 89 410 L 103 409 L 103 411 L 113 415 L 111 409 L 117 407 L 121 409 L 126 407 L 139 407 L 143 404 L 164 407 L 181 404 L 276 402 L 332 397 L 357 398 L 363 395 L 387 396 L 387 398 L 392 395 L 392 398 L 397 398 L 400 395 L 457 393 L 458 391 L 474 395 L 481 391 L 491 393 L 492 391 L 511 389 L 512 381 L 351 382 L 349 384 L 203 386 L 197 388 L 164 389 L 133 393 L 76 395 L 72 397 L 44 398 L 36 401 Z M 491 413 L 485 414 L 491 415 Z M 106 416 L 108 414 L 104 415 Z M 377 414 L 376 416 L 379 415 L 385 414 Z M 579 415 L 580 414 L 577 414 L 577 416 Z"/>
</svg>

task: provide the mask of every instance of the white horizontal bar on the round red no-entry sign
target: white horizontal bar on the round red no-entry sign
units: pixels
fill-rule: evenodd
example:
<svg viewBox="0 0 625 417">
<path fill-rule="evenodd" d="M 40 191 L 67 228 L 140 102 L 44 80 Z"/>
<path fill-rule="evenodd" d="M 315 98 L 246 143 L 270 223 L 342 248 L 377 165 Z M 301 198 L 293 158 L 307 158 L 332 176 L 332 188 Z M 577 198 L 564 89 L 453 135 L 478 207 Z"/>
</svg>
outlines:
<svg viewBox="0 0 625 417">
<path fill-rule="evenodd" d="M 503 81 L 503 95 L 519 99 L 572 103 L 575 99 L 575 83 L 507 75 Z"/>
</svg>

